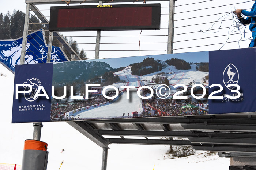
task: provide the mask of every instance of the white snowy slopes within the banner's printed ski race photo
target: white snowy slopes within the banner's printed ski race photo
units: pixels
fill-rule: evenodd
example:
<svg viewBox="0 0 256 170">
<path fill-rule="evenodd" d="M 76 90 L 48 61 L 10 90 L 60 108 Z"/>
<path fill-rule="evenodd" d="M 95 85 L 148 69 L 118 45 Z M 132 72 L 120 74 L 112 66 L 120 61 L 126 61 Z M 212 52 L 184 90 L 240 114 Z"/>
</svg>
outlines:
<svg viewBox="0 0 256 170">
<path fill-rule="evenodd" d="M 152 78 L 157 75 L 158 73 L 164 72 L 165 76 L 169 80 L 170 84 L 185 84 L 188 85 L 188 83 L 194 81 L 198 81 L 202 83 L 202 78 L 204 76 L 208 75 L 208 72 L 201 72 L 196 71 L 196 64 L 191 65 L 191 69 L 189 70 L 177 70 L 174 66 L 166 65 L 165 68 L 163 68 L 161 71 L 154 72 L 148 75 L 144 76 L 136 76 L 132 75 L 131 72 L 131 66 L 127 66 L 121 71 L 114 72 L 114 75 L 118 75 L 121 80 L 125 80 L 126 82 L 129 82 L 128 86 L 134 86 L 136 88 L 141 87 L 142 84 L 149 85 L 150 83 L 147 83 L 148 80 L 152 80 Z M 142 83 L 141 83 L 141 82 Z M 127 84 L 126 84 L 127 85 Z M 150 85 L 151 87 L 156 87 L 157 85 Z M 117 83 L 113 84 L 113 86 L 120 89 L 120 86 L 124 86 L 124 83 Z M 175 92 L 179 90 L 174 90 L 174 88 L 171 88 L 173 91 L 171 92 L 174 94 Z M 131 90 L 130 90 L 131 91 Z M 125 118 L 129 115 L 131 116 L 131 112 L 137 111 L 138 113 L 143 111 L 142 108 L 142 99 L 139 98 L 136 91 L 131 92 L 130 99 L 126 99 L 127 93 L 125 92 L 120 98 L 109 105 L 101 106 L 101 107 L 95 107 L 91 110 L 86 110 L 82 113 L 79 113 L 75 115 L 75 118 L 78 118 L 78 115 L 80 118 Z M 125 114 L 123 116 L 122 114 Z"/>
</svg>

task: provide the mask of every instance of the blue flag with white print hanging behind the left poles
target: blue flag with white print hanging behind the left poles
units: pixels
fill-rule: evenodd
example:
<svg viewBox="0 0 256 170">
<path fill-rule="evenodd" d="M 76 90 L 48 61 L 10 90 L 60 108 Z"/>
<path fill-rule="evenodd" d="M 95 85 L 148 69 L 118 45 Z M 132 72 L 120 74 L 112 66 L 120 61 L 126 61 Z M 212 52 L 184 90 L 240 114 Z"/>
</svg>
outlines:
<svg viewBox="0 0 256 170">
<path fill-rule="evenodd" d="M 14 73 L 15 65 L 20 64 L 22 37 L 0 40 L 0 63 Z M 46 63 L 48 46 L 44 39 L 44 30 L 30 33 L 27 38 L 24 64 Z M 52 46 L 51 62 L 67 61 L 60 47 Z"/>
</svg>

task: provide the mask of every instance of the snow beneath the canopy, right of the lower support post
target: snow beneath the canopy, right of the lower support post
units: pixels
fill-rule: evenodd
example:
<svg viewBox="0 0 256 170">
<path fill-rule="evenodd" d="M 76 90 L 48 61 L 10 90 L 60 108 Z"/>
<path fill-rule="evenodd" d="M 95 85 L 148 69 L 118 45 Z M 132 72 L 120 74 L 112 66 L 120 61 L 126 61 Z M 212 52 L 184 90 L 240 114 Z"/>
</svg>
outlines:
<svg viewBox="0 0 256 170">
<path fill-rule="evenodd" d="M 188 157 L 169 159 L 165 154 L 169 146 L 151 145 L 110 145 L 108 167 L 122 170 L 224 170 L 229 167 L 229 158 L 219 157 L 218 153 L 198 152 Z M 116 155 L 114 150 L 119 150 Z M 129 150 L 129 152 L 127 152 Z M 125 153 L 125 154 L 122 154 Z M 114 158 L 120 157 L 121 161 Z M 131 161 L 132 160 L 132 161 Z"/>
</svg>

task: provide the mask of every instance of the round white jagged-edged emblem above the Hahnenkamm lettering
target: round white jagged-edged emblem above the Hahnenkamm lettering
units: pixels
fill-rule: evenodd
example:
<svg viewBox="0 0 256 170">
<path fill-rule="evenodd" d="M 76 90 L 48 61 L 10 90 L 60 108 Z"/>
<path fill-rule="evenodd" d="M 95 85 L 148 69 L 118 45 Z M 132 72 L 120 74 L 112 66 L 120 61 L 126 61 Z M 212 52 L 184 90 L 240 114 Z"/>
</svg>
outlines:
<svg viewBox="0 0 256 170">
<path fill-rule="evenodd" d="M 31 79 L 27 79 L 27 81 L 24 82 L 23 84 L 30 84 L 32 86 L 32 91 L 30 93 L 24 93 L 25 99 L 29 102 L 35 101 L 38 98 L 38 96 L 35 99 L 33 99 L 33 97 L 35 96 L 35 93 L 37 92 L 38 88 L 42 84 L 40 80 L 37 78 L 31 78 Z M 29 87 L 27 86 L 24 87 L 24 91 L 27 91 L 28 89 Z"/>
</svg>

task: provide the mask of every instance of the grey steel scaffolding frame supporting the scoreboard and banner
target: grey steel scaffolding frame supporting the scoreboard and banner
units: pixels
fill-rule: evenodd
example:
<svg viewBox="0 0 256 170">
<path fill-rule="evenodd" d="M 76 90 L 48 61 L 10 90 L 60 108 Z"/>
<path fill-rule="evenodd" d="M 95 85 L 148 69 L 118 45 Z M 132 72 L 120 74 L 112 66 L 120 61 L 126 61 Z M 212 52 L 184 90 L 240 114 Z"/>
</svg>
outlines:
<svg viewBox="0 0 256 170">
<path fill-rule="evenodd" d="M 147 1 L 168 1 L 168 0 L 147 0 Z M 170 0 L 169 7 L 169 29 L 168 29 L 168 50 L 173 53 L 173 24 L 174 24 L 174 3 Z M 83 0 L 71 0 L 70 4 L 82 3 Z M 85 3 L 100 3 L 106 1 L 87 0 Z M 114 0 L 113 2 L 133 2 L 133 0 Z M 35 15 L 49 28 L 49 21 L 38 10 L 35 5 L 40 4 L 66 4 L 60 0 L 26 0 L 26 18 L 23 33 L 23 46 L 20 64 L 24 64 L 26 52 L 26 40 L 28 35 L 29 11 L 33 10 Z M 58 32 L 50 32 L 49 47 L 51 49 L 52 37 L 57 39 L 71 51 L 71 46 Z M 97 31 L 95 59 L 99 58 L 101 32 Z M 51 50 L 49 50 L 51 51 Z M 48 53 L 48 61 L 50 59 Z M 71 60 L 80 59 L 74 51 Z M 84 120 L 67 122 L 87 138 L 102 147 L 102 170 L 106 170 L 107 154 L 109 144 L 148 144 L 148 145 L 184 145 L 191 146 L 200 151 L 218 151 L 225 157 L 233 156 L 255 156 L 256 153 L 256 115 L 255 113 L 223 114 L 223 115 L 197 115 L 179 117 L 156 117 L 156 118 L 133 118 L 133 119 L 111 119 L 111 120 Z M 133 127 L 131 130 L 129 127 Z M 34 126 L 34 139 L 40 140 L 41 123 Z M 108 127 L 108 128 L 106 128 Z M 117 136 L 121 138 L 108 138 L 103 136 Z M 144 137 L 145 139 L 127 139 L 125 136 Z M 149 137 L 184 137 L 188 140 L 164 140 L 149 139 Z M 228 153 L 225 153 L 228 152 Z M 236 155 L 237 153 L 237 155 Z M 241 153 L 241 154 L 239 154 Z M 238 168 L 230 166 L 230 168 Z M 241 167 L 239 167 L 241 168 Z M 253 168 L 244 166 L 244 168 Z"/>
</svg>

